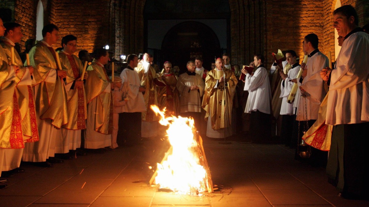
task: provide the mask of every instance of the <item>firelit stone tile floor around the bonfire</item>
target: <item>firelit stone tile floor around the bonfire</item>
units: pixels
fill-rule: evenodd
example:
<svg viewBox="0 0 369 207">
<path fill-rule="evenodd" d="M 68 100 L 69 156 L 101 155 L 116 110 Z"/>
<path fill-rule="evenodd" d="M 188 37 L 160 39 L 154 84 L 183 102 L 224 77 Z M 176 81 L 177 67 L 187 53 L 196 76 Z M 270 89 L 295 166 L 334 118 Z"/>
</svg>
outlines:
<svg viewBox="0 0 369 207">
<path fill-rule="evenodd" d="M 278 144 L 204 139 L 213 183 L 221 192 L 194 197 L 148 186 L 154 166 L 166 151 L 163 142 L 146 140 L 103 154 L 89 153 L 50 168 L 22 164 L 0 190 L 0 206 L 168 207 L 168 206 L 369 206 L 345 200 L 326 179 L 325 169 L 293 159 L 294 150 Z"/>
</svg>

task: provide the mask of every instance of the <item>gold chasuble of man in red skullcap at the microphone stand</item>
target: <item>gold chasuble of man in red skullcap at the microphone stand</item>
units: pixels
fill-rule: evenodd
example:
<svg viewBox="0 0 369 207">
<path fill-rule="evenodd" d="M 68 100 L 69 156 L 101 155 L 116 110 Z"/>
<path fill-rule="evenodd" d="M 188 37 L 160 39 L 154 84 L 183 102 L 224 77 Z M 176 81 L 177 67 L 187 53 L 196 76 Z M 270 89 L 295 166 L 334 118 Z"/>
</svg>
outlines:
<svg viewBox="0 0 369 207">
<path fill-rule="evenodd" d="M 224 72 L 223 72 L 224 71 Z M 232 100 L 238 83 L 234 72 L 229 69 L 218 71 L 217 68 L 208 71 L 205 79 L 205 92 L 201 107 L 206 111 L 205 120 L 211 118 L 211 128 L 214 130 L 231 126 Z M 218 80 L 225 76 L 224 82 Z M 227 120 L 225 120 L 225 113 Z"/>
</svg>

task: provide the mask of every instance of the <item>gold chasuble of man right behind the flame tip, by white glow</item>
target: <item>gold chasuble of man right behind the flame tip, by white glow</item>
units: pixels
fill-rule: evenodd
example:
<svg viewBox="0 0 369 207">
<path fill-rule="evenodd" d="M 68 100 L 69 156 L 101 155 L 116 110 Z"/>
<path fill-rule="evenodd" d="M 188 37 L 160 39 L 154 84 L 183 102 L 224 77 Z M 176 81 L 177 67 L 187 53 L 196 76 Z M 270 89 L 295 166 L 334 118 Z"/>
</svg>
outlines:
<svg viewBox="0 0 369 207">
<path fill-rule="evenodd" d="M 141 118 L 144 121 L 159 121 L 159 117 L 151 110 L 151 105 L 158 106 L 158 94 L 155 90 L 154 78 L 156 76 L 155 69 L 151 66 L 145 71 L 144 65 L 139 62 L 135 71 L 138 73 L 138 78 L 141 81 L 141 86 L 145 87 L 144 100 L 146 111 L 141 113 Z"/>
</svg>

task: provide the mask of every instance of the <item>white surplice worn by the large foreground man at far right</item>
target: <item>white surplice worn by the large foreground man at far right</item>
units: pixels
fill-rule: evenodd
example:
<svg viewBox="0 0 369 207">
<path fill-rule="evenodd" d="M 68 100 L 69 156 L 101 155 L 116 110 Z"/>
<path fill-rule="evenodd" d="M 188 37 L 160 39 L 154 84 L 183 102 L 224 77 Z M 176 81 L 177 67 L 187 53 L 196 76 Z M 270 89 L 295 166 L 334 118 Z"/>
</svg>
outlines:
<svg viewBox="0 0 369 207">
<path fill-rule="evenodd" d="M 369 35 L 355 32 L 345 39 L 331 72 L 326 124 L 369 121 Z"/>
</svg>

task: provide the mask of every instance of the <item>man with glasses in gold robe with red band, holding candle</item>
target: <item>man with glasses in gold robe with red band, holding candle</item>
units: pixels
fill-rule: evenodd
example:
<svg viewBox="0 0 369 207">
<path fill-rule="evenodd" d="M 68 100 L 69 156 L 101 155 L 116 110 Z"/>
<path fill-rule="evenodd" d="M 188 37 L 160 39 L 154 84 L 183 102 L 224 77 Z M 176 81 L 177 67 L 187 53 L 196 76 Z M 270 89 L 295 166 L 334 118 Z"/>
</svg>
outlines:
<svg viewBox="0 0 369 207">
<path fill-rule="evenodd" d="M 62 136 L 56 140 L 55 153 L 69 153 L 69 150 L 76 150 L 81 146 L 81 130 L 86 129 L 87 119 L 86 94 L 81 81 L 83 64 L 73 54 L 76 52 L 77 38 L 73 35 L 63 37 L 62 46 L 63 50 L 59 52 L 59 57 L 62 69 L 67 72 L 65 88 L 68 95 L 69 119 L 68 124 L 62 126 Z M 69 155 L 64 154 L 61 158 L 69 158 Z"/>
</svg>

